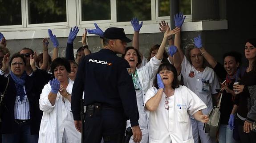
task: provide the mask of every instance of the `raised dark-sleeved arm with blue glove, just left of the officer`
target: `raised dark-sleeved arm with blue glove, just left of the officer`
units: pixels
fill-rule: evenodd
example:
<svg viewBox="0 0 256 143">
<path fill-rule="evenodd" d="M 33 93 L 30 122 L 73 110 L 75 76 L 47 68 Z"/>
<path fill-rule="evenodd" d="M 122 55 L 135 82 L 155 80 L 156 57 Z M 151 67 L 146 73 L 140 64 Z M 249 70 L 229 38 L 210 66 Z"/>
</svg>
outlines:
<svg viewBox="0 0 256 143">
<path fill-rule="evenodd" d="M 73 29 L 70 28 L 69 37 L 68 37 L 67 46 L 66 46 L 66 52 L 65 52 L 65 58 L 68 60 L 75 60 L 73 42 L 77 37 L 78 31 L 79 31 L 79 28 L 76 26 Z"/>
</svg>

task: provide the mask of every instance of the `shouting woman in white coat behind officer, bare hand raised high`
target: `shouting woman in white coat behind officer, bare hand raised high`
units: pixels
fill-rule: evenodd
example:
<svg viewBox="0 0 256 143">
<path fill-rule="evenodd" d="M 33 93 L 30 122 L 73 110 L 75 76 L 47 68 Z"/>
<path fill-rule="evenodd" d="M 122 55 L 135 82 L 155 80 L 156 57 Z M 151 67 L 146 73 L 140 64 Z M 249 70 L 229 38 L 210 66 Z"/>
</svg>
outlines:
<svg viewBox="0 0 256 143">
<path fill-rule="evenodd" d="M 134 47 L 126 47 L 125 54 L 122 55 L 122 58 L 126 59 L 130 65 L 130 69 L 127 70 L 131 74 L 137 95 L 138 112 L 140 117 L 138 122 L 142 131 L 142 140 L 140 143 L 148 143 L 149 141 L 146 112 L 144 112 L 143 109 L 145 93 L 150 88 L 150 80 L 154 77 L 159 65 L 161 64 L 167 37 L 175 34 L 178 31 L 179 28 L 175 28 L 172 31 L 167 30 L 164 34 L 161 46 L 158 49 L 158 53 L 153 58 L 151 58 L 150 61 L 146 63 L 146 65 L 140 66 L 139 69 L 137 66 L 142 62 L 142 60 L 137 49 Z M 126 127 L 128 128 L 130 126 L 131 125 L 129 120 Z M 130 142 L 132 142 L 132 138 L 133 137 L 131 137 Z"/>
</svg>

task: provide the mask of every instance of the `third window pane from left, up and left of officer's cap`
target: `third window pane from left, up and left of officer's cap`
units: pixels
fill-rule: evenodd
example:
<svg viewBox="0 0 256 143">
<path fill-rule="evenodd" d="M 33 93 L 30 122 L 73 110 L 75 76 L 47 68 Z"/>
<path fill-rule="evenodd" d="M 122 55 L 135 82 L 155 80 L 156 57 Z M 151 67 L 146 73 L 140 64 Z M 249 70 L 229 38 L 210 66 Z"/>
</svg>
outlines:
<svg viewBox="0 0 256 143">
<path fill-rule="evenodd" d="M 82 21 L 111 19 L 110 0 L 82 0 Z"/>
</svg>

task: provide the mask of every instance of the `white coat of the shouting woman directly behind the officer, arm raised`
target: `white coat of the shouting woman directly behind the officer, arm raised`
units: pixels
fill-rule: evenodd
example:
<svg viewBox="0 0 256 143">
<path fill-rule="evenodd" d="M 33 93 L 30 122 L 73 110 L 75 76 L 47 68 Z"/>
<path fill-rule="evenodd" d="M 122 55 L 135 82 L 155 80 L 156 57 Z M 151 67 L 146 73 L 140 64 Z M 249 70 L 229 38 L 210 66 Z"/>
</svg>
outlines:
<svg viewBox="0 0 256 143">
<path fill-rule="evenodd" d="M 144 59 L 145 57 L 143 57 Z M 158 60 L 155 56 L 150 59 L 149 62 L 146 63 L 145 66 L 141 66 L 139 69 L 137 68 L 138 78 L 140 84 L 142 85 L 142 89 L 136 90 L 137 97 L 137 106 L 139 112 L 139 120 L 138 124 L 142 131 L 142 141 L 140 143 L 148 143 L 148 127 L 147 127 L 147 116 L 144 111 L 144 98 L 146 91 L 150 88 L 150 79 L 155 77 L 158 67 L 160 66 L 162 60 Z M 127 121 L 126 127 L 130 127 L 130 120 Z M 133 136 L 130 139 L 130 143 L 132 143 Z"/>
</svg>

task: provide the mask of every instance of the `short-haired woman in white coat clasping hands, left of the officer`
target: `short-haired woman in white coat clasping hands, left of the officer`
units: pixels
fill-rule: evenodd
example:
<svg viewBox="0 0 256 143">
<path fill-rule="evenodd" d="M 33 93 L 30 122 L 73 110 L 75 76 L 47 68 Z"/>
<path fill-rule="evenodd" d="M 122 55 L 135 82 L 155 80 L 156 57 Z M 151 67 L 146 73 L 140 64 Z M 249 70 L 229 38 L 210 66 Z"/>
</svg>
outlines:
<svg viewBox="0 0 256 143">
<path fill-rule="evenodd" d="M 39 131 L 39 143 L 81 143 L 81 133 L 74 126 L 71 112 L 73 82 L 68 78 L 69 61 L 56 58 L 52 62 L 53 81 L 49 81 L 42 90 L 39 100 L 43 111 Z"/>
</svg>

